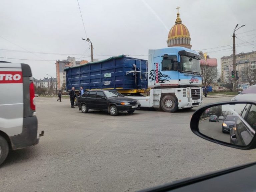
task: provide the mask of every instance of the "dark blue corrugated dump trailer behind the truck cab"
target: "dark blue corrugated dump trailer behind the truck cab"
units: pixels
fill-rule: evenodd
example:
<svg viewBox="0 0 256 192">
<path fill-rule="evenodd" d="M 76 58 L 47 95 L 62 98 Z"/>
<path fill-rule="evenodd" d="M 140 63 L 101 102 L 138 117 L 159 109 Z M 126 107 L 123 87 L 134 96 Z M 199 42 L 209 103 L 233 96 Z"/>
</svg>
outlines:
<svg viewBox="0 0 256 192">
<path fill-rule="evenodd" d="M 119 55 L 85 65 L 69 67 L 66 88 L 115 89 L 120 93 L 139 94 L 147 89 L 147 61 Z"/>
</svg>

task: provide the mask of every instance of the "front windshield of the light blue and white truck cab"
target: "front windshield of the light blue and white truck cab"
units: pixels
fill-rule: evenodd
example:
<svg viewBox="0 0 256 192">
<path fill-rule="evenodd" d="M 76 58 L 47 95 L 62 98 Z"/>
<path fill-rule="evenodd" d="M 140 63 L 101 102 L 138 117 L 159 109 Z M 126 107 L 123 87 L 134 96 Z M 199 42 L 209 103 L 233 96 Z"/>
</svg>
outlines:
<svg viewBox="0 0 256 192">
<path fill-rule="evenodd" d="M 201 75 L 200 61 L 198 59 L 182 55 L 181 62 L 182 62 L 182 71 L 184 73 Z"/>
</svg>

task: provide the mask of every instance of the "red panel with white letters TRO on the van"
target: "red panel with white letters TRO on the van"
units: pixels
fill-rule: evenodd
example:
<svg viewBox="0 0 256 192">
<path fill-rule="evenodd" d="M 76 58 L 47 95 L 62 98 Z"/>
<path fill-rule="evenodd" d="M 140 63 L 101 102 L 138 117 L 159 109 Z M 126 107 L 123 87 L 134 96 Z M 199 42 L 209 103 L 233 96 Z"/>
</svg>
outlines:
<svg viewBox="0 0 256 192">
<path fill-rule="evenodd" d="M 23 83 L 21 71 L 0 71 L 0 83 Z"/>
</svg>

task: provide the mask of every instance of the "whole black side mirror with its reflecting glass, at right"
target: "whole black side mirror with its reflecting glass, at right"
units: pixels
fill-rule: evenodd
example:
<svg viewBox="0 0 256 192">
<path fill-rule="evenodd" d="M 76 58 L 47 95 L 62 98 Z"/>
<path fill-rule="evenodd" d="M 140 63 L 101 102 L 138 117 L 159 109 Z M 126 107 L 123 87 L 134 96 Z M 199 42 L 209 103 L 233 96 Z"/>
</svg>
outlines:
<svg viewBox="0 0 256 192">
<path fill-rule="evenodd" d="M 224 116 L 220 121 L 216 116 Z M 193 133 L 208 141 L 237 149 L 256 148 L 256 102 L 229 101 L 206 105 L 190 122 Z"/>
</svg>

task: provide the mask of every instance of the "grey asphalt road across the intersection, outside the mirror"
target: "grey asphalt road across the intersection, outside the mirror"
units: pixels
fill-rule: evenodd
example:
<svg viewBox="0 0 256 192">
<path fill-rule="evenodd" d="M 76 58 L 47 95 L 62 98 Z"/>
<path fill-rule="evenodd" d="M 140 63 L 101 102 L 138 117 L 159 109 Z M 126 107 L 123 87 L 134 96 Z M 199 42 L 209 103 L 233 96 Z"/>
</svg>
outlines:
<svg viewBox="0 0 256 192">
<path fill-rule="evenodd" d="M 204 98 L 204 105 L 231 97 Z M 81 113 L 68 99 L 36 99 L 38 145 L 11 151 L 0 168 L 0 191 L 136 191 L 256 160 L 194 135 L 195 109 L 138 110 L 112 117 Z M 212 123 L 214 124 L 214 123 Z"/>
</svg>

